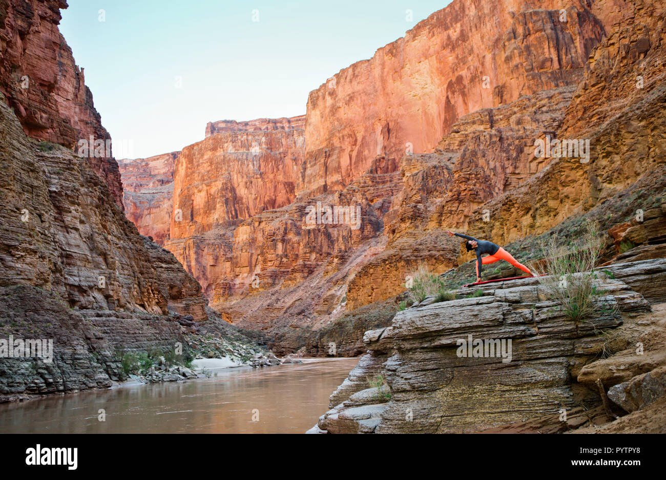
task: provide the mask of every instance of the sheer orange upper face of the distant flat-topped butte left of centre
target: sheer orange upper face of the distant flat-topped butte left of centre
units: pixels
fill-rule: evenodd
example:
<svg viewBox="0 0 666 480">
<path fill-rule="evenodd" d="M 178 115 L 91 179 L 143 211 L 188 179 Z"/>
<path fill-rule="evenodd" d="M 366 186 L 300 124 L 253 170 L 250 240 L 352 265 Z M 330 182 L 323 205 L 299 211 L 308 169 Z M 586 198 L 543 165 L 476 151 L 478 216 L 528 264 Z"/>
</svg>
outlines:
<svg viewBox="0 0 666 480">
<path fill-rule="evenodd" d="M 247 123 L 182 149 L 174 170 L 170 238 L 238 224 L 294 200 L 302 128 L 262 130 L 264 122 Z"/>
</svg>

